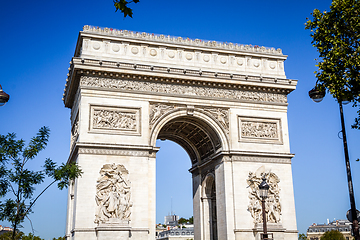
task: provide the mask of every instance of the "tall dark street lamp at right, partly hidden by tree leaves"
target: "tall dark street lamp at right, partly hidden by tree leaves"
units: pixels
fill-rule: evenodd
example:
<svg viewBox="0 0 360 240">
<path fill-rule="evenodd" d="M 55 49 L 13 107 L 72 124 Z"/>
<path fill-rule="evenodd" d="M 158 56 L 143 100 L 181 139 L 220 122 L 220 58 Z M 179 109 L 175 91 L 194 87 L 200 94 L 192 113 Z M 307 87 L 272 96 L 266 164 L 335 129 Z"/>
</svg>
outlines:
<svg viewBox="0 0 360 240">
<path fill-rule="evenodd" d="M 314 102 L 319 103 L 325 97 L 325 91 L 319 91 L 315 87 L 309 91 L 309 97 Z M 339 107 L 340 107 L 341 132 L 342 132 L 342 139 L 343 139 L 343 144 L 344 144 L 345 165 L 346 165 L 346 173 L 347 173 L 349 196 L 350 196 L 350 206 L 351 206 L 350 214 L 352 216 L 352 223 L 353 223 L 352 229 L 353 229 L 355 240 L 360 240 L 359 223 L 358 223 L 357 214 L 356 214 L 354 189 L 353 189 L 353 184 L 352 184 L 350 161 L 349 161 L 349 151 L 348 151 L 347 140 L 346 140 L 343 102 L 339 99 L 338 99 L 338 102 L 339 102 Z"/>
</svg>

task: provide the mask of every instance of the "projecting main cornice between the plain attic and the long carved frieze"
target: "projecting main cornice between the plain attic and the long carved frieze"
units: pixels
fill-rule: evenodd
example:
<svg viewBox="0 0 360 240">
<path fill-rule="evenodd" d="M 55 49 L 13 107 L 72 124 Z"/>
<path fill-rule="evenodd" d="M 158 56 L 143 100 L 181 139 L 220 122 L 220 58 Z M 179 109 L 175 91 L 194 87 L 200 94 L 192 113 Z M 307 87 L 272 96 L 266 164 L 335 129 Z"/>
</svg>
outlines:
<svg viewBox="0 0 360 240">
<path fill-rule="evenodd" d="M 126 78 L 134 81 L 145 80 L 150 82 L 173 83 L 186 86 L 203 86 L 215 89 L 262 91 L 285 95 L 293 91 L 297 84 L 296 80 L 265 77 L 261 75 L 242 75 L 73 58 L 70 62 L 69 73 L 67 74 L 68 78 L 66 79 L 63 94 L 63 101 L 67 107 L 72 106 L 72 101 L 74 101 L 75 91 L 78 86 L 78 80 L 84 75 L 107 78 Z"/>
</svg>

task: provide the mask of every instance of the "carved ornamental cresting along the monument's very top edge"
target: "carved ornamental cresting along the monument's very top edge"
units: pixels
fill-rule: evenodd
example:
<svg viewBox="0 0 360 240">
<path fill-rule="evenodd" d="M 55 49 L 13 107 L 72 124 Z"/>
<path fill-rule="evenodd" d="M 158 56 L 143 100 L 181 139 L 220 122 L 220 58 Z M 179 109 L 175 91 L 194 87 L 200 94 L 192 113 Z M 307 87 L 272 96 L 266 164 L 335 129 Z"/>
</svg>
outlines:
<svg viewBox="0 0 360 240">
<path fill-rule="evenodd" d="M 207 48 L 215 48 L 215 49 L 224 49 L 224 50 L 232 50 L 232 51 L 241 51 L 241 52 L 251 52 L 251 53 L 267 53 L 273 55 L 283 56 L 280 48 L 269 48 L 257 45 L 243 45 L 237 43 L 224 43 L 218 41 L 208 41 L 201 39 L 190 39 L 183 37 L 175 37 L 170 35 L 163 34 L 154 34 L 154 33 L 145 33 L 145 32 L 133 32 L 128 30 L 118 30 L 113 28 L 101 28 L 95 26 L 85 25 L 83 27 L 83 32 L 107 35 L 107 36 L 118 36 L 129 39 L 139 39 L 146 41 L 155 41 L 161 43 L 172 43 L 172 44 L 181 44 L 184 46 L 196 46 L 196 47 L 207 47 Z"/>
</svg>

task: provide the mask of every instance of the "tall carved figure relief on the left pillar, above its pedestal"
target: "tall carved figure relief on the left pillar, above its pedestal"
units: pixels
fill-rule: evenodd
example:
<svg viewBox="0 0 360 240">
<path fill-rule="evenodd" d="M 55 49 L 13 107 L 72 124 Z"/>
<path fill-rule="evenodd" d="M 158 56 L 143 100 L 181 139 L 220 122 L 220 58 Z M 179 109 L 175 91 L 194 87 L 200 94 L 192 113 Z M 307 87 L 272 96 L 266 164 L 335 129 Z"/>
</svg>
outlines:
<svg viewBox="0 0 360 240">
<path fill-rule="evenodd" d="M 123 165 L 105 164 L 97 180 L 95 223 L 124 222 L 130 220 L 129 172 Z"/>
</svg>

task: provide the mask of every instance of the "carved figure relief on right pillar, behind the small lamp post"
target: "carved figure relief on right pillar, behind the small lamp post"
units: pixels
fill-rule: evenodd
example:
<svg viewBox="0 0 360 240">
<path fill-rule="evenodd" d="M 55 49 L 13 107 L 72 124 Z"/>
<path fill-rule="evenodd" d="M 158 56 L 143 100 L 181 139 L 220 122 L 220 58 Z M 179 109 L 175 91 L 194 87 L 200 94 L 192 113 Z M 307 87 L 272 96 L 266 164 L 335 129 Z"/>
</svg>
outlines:
<svg viewBox="0 0 360 240">
<path fill-rule="evenodd" d="M 279 177 L 271 172 L 265 172 L 264 166 L 260 167 L 255 173 L 249 172 L 247 179 L 249 191 L 250 204 L 248 211 L 254 219 L 254 224 L 262 223 L 262 210 L 261 210 L 261 198 L 259 196 L 259 184 L 262 182 L 262 178 L 265 177 L 269 184 L 268 198 L 265 201 L 265 211 L 267 222 L 279 223 L 281 221 L 281 204 L 279 196 Z"/>
</svg>

